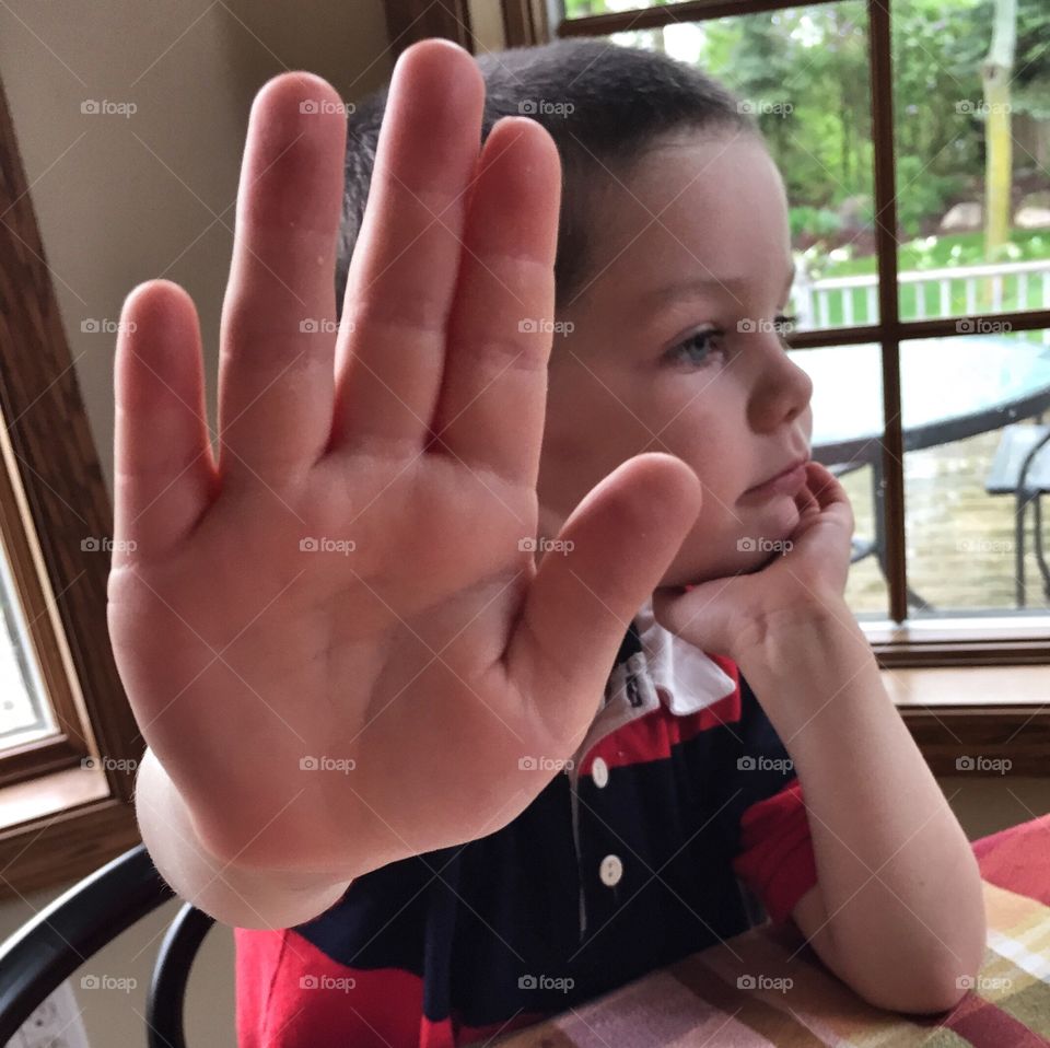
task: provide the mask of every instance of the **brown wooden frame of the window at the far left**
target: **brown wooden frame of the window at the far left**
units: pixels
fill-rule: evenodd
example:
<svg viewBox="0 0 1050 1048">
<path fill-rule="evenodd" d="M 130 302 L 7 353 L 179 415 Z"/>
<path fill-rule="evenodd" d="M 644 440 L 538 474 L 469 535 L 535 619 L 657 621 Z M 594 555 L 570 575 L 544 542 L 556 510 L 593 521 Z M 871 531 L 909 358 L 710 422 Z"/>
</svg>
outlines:
<svg viewBox="0 0 1050 1048">
<path fill-rule="evenodd" d="M 0 289 L 0 537 L 58 729 L 0 757 L 10 897 L 83 876 L 140 839 L 126 769 L 144 742 L 106 622 L 109 499 L 2 82 Z"/>
</svg>

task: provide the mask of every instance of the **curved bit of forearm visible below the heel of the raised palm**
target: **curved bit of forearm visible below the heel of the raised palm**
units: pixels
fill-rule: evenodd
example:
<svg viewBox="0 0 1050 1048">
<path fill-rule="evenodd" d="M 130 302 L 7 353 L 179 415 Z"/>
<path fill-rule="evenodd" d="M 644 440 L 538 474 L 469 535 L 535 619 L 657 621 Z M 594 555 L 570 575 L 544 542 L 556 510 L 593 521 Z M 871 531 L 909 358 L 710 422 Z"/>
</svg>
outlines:
<svg viewBox="0 0 1050 1048">
<path fill-rule="evenodd" d="M 324 912 L 350 880 L 261 872 L 224 863 L 207 851 L 167 772 L 148 749 L 135 790 L 139 830 L 161 876 L 217 921 L 238 928 L 290 928 Z"/>
</svg>

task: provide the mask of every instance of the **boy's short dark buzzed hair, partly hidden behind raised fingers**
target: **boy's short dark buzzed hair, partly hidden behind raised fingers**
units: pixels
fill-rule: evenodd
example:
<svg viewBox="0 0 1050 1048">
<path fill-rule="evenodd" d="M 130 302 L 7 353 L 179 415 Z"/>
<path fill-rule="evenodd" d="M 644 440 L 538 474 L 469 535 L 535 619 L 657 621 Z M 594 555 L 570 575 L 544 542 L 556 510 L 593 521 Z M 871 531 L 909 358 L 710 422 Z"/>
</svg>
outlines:
<svg viewBox="0 0 1050 1048">
<path fill-rule="evenodd" d="M 590 218 L 598 195 L 595 176 L 603 165 L 622 177 L 646 147 L 680 128 L 743 130 L 760 137 L 736 95 L 661 51 L 603 37 L 572 37 L 491 51 L 475 61 L 486 91 L 481 142 L 500 117 L 525 115 L 541 124 L 558 147 L 562 193 L 556 306 L 578 293 L 593 268 Z M 348 117 L 337 315 L 364 217 L 388 86 L 368 95 Z"/>
</svg>

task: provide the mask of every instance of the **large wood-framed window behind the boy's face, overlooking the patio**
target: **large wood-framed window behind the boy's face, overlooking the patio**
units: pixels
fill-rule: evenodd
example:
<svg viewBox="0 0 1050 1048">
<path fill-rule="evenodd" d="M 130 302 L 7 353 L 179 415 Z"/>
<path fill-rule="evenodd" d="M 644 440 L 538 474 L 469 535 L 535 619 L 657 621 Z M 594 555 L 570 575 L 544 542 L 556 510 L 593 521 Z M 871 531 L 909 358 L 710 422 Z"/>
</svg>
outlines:
<svg viewBox="0 0 1050 1048">
<path fill-rule="evenodd" d="M 1018 467 L 1050 432 L 1040 0 L 998 28 L 994 0 L 506 0 L 504 13 L 506 46 L 603 35 L 661 49 L 751 108 L 790 199 L 814 455 L 856 514 L 851 607 L 887 667 L 1045 664 L 1042 506 Z M 1050 438 L 1025 479 L 1050 493 Z"/>
</svg>

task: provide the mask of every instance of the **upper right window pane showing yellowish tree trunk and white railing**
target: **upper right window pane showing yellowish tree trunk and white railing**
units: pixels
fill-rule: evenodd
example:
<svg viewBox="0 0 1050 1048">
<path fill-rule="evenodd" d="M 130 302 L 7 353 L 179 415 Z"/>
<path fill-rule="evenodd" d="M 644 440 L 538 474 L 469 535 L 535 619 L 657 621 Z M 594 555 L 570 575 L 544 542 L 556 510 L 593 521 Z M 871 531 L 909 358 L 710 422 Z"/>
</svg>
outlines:
<svg viewBox="0 0 1050 1048">
<path fill-rule="evenodd" d="M 1050 306 L 1050 16 L 1017 0 L 1012 66 L 983 80 L 995 7 L 894 3 L 903 319 Z"/>
</svg>

